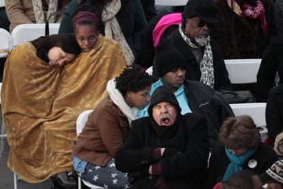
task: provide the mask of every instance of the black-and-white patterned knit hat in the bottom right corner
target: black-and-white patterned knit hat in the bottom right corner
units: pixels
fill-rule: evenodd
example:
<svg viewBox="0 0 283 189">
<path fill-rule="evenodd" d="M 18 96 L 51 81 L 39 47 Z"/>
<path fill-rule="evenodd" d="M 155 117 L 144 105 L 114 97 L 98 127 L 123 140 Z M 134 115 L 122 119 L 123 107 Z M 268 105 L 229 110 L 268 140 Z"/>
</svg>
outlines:
<svg viewBox="0 0 283 189">
<path fill-rule="evenodd" d="M 260 175 L 262 184 L 269 182 L 278 182 L 283 184 L 283 160 L 278 160 L 267 169 L 267 171 Z"/>
</svg>

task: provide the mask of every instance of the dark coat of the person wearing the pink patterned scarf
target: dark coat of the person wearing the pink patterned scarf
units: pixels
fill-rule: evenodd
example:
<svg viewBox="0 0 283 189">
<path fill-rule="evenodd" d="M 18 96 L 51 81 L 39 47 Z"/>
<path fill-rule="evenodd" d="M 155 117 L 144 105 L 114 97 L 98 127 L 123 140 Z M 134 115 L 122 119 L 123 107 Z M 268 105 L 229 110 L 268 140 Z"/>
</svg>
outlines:
<svg viewBox="0 0 283 189">
<path fill-rule="evenodd" d="M 262 0 L 267 36 L 263 36 L 258 19 L 238 16 L 226 0 L 217 0 L 215 3 L 219 9 L 219 23 L 211 30 L 211 36 L 220 46 L 224 59 L 261 58 L 270 38 L 275 36 L 272 1 Z"/>
</svg>

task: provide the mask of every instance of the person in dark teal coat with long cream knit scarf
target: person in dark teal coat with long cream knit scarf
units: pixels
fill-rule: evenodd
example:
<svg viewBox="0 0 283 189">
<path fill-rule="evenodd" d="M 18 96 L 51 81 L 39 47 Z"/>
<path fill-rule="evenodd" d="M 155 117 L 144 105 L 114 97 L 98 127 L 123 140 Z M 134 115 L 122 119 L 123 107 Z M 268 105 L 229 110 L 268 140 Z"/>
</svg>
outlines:
<svg viewBox="0 0 283 189">
<path fill-rule="evenodd" d="M 66 12 L 72 15 L 78 5 L 91 5 L 97 10 L 104 27 L 101 34 L 116 40 L 128 65 L 135 62 L 147 29 L 146 16 L 139 0 L 73 0 Z M 59 34 L 73 33 L 70 16 L 64 16 Z"/>
</svg>

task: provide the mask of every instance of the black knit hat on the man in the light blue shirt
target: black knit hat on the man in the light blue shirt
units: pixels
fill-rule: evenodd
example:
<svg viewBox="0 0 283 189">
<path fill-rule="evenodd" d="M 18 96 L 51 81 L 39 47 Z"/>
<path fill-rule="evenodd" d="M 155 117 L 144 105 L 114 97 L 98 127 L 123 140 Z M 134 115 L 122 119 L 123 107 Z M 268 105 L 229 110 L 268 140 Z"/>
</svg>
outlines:
<svg viewBox="0 0 283 189">
<path fill-rule="evenodd" d="M 157 45 L 153 70 L 156 71 L 159 77 L 162 77 L 176 68 L 185 68 L 183 55 L 167 39 L 163 39 Z"/>
</svg>

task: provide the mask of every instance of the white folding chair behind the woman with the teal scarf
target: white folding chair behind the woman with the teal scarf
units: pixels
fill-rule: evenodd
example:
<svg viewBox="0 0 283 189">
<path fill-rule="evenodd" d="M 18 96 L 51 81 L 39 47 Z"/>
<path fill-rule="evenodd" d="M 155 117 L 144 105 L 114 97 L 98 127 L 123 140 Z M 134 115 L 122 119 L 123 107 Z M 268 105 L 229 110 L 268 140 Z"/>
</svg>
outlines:
<svg viewBox="0 0 283 189">
<path fill-rule="evenodd" d="M 265 108 L 267 103 L 234 103 L 230 104 L 235 116 L 250 115 L 260 131 L 260 138 L 267 138 L 267 123 L 265 121 Z"/>
</svg>

